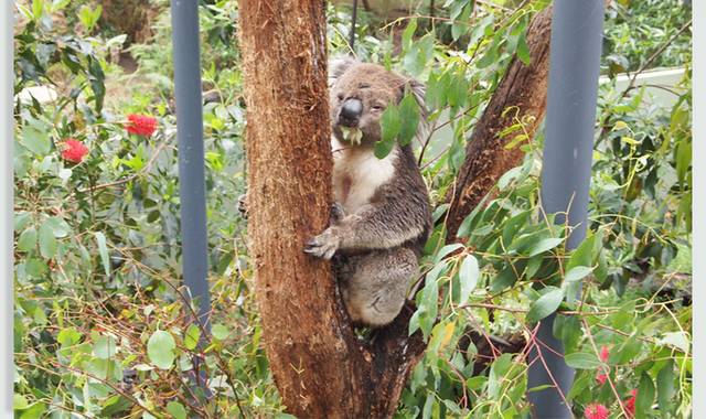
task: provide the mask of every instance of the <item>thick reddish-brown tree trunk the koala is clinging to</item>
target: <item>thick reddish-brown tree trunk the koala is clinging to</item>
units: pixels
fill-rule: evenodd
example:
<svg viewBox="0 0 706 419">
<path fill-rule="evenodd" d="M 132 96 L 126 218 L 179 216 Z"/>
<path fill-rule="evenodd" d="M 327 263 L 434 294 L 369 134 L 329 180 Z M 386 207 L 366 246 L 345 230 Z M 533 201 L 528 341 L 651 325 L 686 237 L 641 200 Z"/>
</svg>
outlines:
<svg viewBox="0 0 706 419">
<path fill-rule="evenodd" d="M 240 0 L 239 14 L 249 250 L 277 388 L 300 418 L 392 417 L 425 348 L 411 309 L 361 342 L 329 262 L 302 251 L 331 204 L 324 1 Z"/>
</svg>

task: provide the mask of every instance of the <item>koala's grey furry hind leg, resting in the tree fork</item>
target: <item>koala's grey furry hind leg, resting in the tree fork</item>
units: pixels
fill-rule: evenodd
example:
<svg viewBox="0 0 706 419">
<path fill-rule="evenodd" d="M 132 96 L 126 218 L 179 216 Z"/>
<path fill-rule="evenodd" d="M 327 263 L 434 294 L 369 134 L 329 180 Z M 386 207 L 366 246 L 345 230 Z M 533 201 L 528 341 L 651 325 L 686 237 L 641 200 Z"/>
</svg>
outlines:
<svg viewBox="0 0 706 419">
<path fill-rule="evenodd" d="M 372 326 L 395 320 L 417 273 L 415 254 L 395 248 L 352 257 L 349 264 L 347 275 L 341 278 L 341 291 L 351 320 Z"/>
</svg>

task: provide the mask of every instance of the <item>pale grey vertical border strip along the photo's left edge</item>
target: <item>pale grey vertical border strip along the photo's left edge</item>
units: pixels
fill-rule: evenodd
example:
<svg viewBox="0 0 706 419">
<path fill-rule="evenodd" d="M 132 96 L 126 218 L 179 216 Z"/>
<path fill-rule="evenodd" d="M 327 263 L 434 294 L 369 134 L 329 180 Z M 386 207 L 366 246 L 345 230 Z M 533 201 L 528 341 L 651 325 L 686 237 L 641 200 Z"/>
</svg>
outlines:
<svg viewBox="0 0 706 419">
<path fill-rule="evenodd" d="M 14 382 L 14 368 L 13 368 L 13 321 L 14 312 L 12 307 L 12 281 L 14 278 L 14 267 L 12 260 L 12 245 L 13 245 L 13 132 L 12 127 L 14 120 L 12 117 L 13 99 L 12 99 L 12 86 L 13 86 L 13 46 L 12 46 L 12 29 L 14 28 L 14 19 L 12 11 L 12 2 L 7 1 L 2 6 L 2 28 L 0 33 L 0 61 L 2 61 L 2 68 L 0 68 L 0 127 L 2 127 L 2 168 L 4 173 L 2 176 L 2 184 L 0 191 L 0 205 L 2 205 L 2 218 L 0 218 L 0 234 L 2 235 L 2 249 L 0 250 L 0 267 L 2 269 L 2 287 L 0 289 L 0 311 L 2 314 L 2 372 L 0 373 L 0 388 L 2 394 L 0 395 L 0 417 L 12 417 L 12 388 Z"/>
</svg>

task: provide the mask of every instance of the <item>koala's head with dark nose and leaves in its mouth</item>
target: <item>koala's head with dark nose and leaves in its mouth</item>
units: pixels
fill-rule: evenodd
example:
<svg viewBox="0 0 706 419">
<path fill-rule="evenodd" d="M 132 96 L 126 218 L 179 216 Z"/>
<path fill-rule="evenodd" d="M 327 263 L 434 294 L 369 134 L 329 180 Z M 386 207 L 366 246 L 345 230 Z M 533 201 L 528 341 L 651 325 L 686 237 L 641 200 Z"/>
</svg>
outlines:
<svg viewBox="0 0 706 419">
<path fill-rule="evenodd" d="M 406 92 L 411 93 L 424 109 L 424 85 L 388 72 L 382 65 L 353 58 L 335 60 L 330 65 L 329 84 L 333 135 L 353 146 L 379 140 L 381 116 L 387 106 L 398 104 Z"/>
</svg>

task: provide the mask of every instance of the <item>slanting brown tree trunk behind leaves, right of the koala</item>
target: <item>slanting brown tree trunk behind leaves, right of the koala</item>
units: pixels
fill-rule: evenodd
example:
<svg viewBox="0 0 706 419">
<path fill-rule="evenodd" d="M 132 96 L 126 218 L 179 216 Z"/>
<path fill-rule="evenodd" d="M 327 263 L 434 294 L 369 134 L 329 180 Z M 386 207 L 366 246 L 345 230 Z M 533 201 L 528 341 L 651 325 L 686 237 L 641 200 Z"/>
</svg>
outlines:
<svg viewBox="0 0 706 419">
<path fill-rule="evenodd" d="M 516 123 L 515 118 L 532 116 L 534 119 L 525 125 L 532 140 L 544 119 L 550 34 L 552 7 L 547 7 L 532 19 L 527 29 L 530 65 L 517 57 L 513 58 L 466 147 L 466 162 L 459 171 L 456 187 L 447 195 L 447 202 L 451 203 L 447 223 L 449 240 L 456 238 L 463 218 L 492 190 L 500 176 L 518 165 L 524 157 L 518 147 L 505 149 L 514 135 L 500 138 L 499 133 Z M 503 116 L 511 106 L 517 107 L 518 114 L 511 110 Z"/>
</svg>

